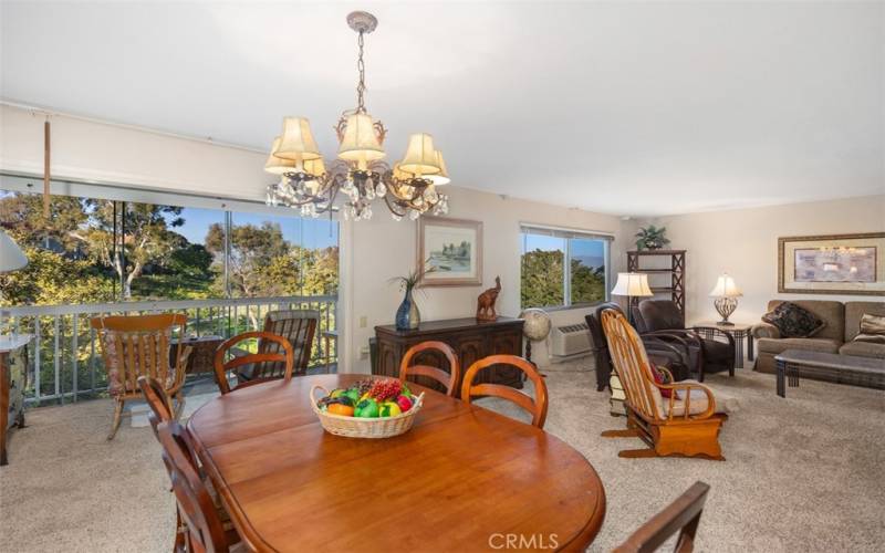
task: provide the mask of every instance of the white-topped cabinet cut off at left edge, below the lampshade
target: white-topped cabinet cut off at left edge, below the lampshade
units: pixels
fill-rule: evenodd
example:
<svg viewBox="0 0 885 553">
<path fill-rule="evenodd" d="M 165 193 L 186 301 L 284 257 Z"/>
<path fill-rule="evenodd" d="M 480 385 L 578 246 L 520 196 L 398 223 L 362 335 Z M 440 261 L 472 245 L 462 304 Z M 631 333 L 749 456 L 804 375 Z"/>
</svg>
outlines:
<svg viewBox="0 0 885 553">
<path fill-rule="evenodd" d="M 29 334 L 0 336 L 0 466 L 7 465 L 7 437 L 24 426 L 24 387 L 28 385 Z"/>
</svg>

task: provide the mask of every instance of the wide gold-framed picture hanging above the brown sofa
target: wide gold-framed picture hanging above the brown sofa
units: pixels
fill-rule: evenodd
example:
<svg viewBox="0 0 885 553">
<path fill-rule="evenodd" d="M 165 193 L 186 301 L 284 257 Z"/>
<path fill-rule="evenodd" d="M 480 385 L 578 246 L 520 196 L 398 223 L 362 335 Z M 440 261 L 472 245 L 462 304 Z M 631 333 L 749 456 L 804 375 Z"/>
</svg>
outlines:
<svg viewBox="0 0 885 553">
<path fill-rule="evenodd" d="M 779 238 L 778 292 L 885 295 L 885 232 Z"/>
</svg>

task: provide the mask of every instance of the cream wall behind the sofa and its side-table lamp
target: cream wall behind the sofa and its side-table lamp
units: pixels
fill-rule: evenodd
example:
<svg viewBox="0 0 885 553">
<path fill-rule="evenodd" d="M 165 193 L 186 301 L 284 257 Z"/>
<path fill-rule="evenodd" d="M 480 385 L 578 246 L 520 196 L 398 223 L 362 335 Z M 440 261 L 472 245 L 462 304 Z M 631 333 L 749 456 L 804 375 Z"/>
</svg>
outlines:
<svg viewBox="0 0 885 553">
<path fill-rule="evenodd" d="M 642 221 L 667 227 L 674 249 L 686 249 L 688 323 L 720 317 L 708 296 L 727 272 L 743 291 L 730 320 L 754 323 L 768 301 L 816 299 L 851 301 L 870 296 L 778 293 L 778 238 L 885 231 L 885 195 L 790 204 L 754 209 L 663 217 Z"/>
</svg>

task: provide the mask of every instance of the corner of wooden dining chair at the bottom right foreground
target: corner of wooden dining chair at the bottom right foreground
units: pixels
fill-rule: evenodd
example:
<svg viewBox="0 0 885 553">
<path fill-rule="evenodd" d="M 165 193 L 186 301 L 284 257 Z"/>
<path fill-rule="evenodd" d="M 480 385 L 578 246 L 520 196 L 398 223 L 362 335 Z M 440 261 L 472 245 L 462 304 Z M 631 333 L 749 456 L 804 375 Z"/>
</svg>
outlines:
<svg viewBox="0 0 885 553">
<path fill-rule="evenodd" d="M 615 547 L 614 553 L 652 553 L 677 530 L 679 538 L 676 540 L 674 553 L 691 553 L 708 491 L 710 491 L 708 484 L 695 482 L 688 491 L 639 526 L 627 541 Z"/>
</svg>

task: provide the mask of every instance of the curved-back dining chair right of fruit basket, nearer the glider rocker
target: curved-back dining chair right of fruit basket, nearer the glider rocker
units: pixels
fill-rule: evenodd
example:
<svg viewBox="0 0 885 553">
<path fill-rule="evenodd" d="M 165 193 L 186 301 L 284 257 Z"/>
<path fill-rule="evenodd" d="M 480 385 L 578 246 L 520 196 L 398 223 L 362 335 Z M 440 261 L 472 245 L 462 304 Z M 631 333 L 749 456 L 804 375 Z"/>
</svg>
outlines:
<svg viewBox="0 0 885 553">
<path fill-rule="evenodd" d="M 477 374 L 492 365 L 510 365 L 525 373 L 525 376 L 534 384 L 534 399 L 516 388 L 502 384 L 473 384 Z M 534 365 L 522 357 L 517 355 L 489 355 L 470 365 L 461 383 L 461 400 L 469 404 L 472 396 L 492 396 L 513 401 L 532 415 L 532 425 L 538 428 L 544 427 L 548 406 L 546 384 L 538 369 L 534 368 Z"/>
</svg>

